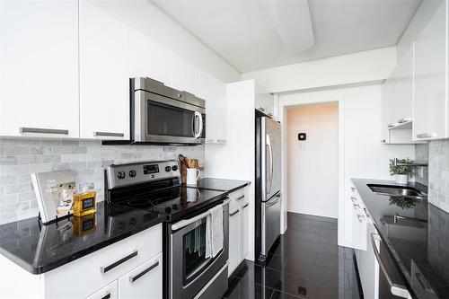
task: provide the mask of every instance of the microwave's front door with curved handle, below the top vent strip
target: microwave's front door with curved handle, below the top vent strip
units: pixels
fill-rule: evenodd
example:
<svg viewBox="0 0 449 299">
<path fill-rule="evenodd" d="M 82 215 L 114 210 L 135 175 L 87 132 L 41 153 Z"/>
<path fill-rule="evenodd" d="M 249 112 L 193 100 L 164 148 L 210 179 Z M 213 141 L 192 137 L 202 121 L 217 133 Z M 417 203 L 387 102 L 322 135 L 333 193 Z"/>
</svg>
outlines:
<svg viewBox="0 0 449 299">
<path fill-rule="evenodd" d="M 136 92 L 134 139 L 138 142 L 202 144 L 206 110 L 186 101 Z"/>
</svg>

